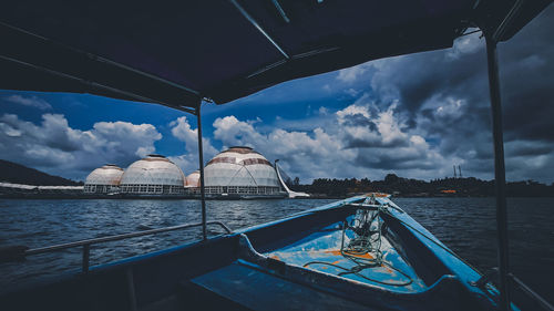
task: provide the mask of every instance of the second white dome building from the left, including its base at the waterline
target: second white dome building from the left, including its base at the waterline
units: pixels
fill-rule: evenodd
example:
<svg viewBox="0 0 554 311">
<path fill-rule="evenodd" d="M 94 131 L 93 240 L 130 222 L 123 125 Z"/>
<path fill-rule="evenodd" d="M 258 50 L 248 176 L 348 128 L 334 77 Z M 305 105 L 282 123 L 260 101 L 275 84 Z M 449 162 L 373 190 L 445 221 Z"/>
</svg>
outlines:
<svg viewBox="0 0 554 311">
<path fill-rule="evenodd" d="M 131 164 L 121 178 L 125 195 L 182 195 L 185 175 L 162 155 L 148 155 Z"/>
</svg>

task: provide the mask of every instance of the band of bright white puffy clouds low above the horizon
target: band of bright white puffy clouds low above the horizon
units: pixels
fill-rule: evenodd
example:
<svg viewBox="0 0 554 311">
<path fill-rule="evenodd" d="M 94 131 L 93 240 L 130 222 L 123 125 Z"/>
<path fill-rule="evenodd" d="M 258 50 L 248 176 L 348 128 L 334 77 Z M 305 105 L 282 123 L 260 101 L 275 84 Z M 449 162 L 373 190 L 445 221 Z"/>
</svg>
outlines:
<svg viewBox="0 0 554 311">
<path fill-rule="evenodd" d="M 456 106 L 452 100 L 445 105 Z M 450 157 L 441 155 L 418 133 L 408 128 L 397 114 L 397 105 L 380 110 L 377 104 L 357 102 L 336 113 L 320 115 L 326 126 L 306 131 L 266 127 L 258 120 L 240 121 L 230 115 L 214 123 L 214 138 L 224 148 L 247 145 L 264 154 L 302 183 L 314 178 L 381 179 L 388 173 L 413 178 L 450 176 L 452 164 L 461 164 L 469 170 L 486 166 L 489 146 L 475 142 L 474 148 Z M 434 111 L 437 113 L 437 111 Z M 327 126 L 334 122 L 332 126 Z M 189 174 L 198 167 L 197 129 L 186 117 L 171 124 L 172 134 L 184 142 L 186 153 L 171 156 L 174 163 Z M 261 128 L 268 128 L 264 131 Z M 70 178 L 84 178 L 90 170 L 105 163 L 123 167 L 133 160 L 155 152 L 154 142 L 162 135 L 151 124 L 126 122 L 98 122 L 88 131 L 72 128 L 59 114 L 44 114 L 40 124 L 20 120 L 12 114 L 0 116 L 0 153 L 9 160 L 18 162 L 50 174 Z M 483 138 L 486 141 L 486 138 Z M 218 153 L 212 141 L 204 138 L 205 160 Z M 530 157 L 529 154 L 532 154 Z M 507 143 L 506 163 L 537 176 L 551 172 L 553 153 L 546 143 Z M 533 159 L 529 162 L 529 159 Z M 546 169 L 545 169 L 546 168 Z M 466 170 L 465 170 L 466 172 Z M 546 177 L 545 177 L 546 178 Z"/>
</svg>

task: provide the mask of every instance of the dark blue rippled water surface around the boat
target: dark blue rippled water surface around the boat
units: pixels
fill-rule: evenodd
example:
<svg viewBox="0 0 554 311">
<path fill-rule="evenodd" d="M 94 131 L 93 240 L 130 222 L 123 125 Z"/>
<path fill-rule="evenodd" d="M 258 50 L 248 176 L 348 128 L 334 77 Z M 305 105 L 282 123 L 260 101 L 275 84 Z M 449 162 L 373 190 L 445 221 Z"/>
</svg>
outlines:
<svg viewBox="0 0 554 311">
<path fill-rule="evenodd" d="M 396 198 L 400 207 L 481 271 L 496 266 L 493 198 Z M 334 200 L 207 201 L 208 219 L 238 229 Z M 0 247 L 31 248 L 199 221 L 196 200 L 0 200 Z M 554 198 L 510 198 L 512 271 L 554 301 Z M 209 228 L 211 234 L 220 232 Z M 138 237 L 91 248 L 91 266 L 177 246 L 201 229 Z M 2 290 L 79 269 L 81 249 L 0 263 Z"/>
</svg>

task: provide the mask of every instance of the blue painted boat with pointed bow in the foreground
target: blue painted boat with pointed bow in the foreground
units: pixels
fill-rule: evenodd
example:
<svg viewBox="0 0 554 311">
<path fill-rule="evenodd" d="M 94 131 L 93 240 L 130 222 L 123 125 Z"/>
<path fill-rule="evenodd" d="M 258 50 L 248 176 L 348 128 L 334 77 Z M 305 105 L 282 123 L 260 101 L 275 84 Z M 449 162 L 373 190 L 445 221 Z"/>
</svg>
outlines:
<svg viewBox="0 0 554 311">
<path fill-rule="evenodd" d="M 497 292 L 388 197 L 355 197 L 0 297 L 1 310 L 495 310 Z M 380 206 L 378 252 L 343 250 Z M 376 220 L 377 221 L 377 220 Z M 377 222 L 376 222 L 377 224 Z M 375 257 L 380 261 L 375 263 Z"/>
</svg>

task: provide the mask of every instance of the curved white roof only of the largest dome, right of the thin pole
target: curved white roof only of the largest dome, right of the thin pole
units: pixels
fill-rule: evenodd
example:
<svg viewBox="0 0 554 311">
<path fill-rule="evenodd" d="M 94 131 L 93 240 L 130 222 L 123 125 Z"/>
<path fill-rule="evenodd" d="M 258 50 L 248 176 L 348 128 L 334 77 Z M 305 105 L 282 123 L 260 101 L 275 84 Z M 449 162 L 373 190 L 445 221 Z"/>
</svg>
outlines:
<svg viewBox="0 0 554 311">
<path fill-rule="evenodd" d="M 250 147 L 230 147 L 208 162 L 204 169 L 208 186 L 280 187 L 271 164 Z"/>
</svg>

